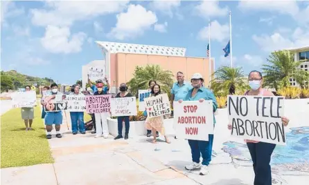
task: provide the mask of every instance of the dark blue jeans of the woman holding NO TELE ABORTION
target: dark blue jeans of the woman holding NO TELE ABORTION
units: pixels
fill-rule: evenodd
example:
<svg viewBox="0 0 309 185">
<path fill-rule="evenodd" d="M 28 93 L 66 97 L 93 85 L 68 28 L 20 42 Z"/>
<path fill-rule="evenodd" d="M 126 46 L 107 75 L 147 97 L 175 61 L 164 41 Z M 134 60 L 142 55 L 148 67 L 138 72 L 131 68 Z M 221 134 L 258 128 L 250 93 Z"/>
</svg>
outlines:
<svg viewBox="0 0 309 185">
<path fill-rule="evenodd" d="M 247 143 L 254 169 L 254 185 L 272 185 L 270 159 L 276 144 Z"/>
</svg>

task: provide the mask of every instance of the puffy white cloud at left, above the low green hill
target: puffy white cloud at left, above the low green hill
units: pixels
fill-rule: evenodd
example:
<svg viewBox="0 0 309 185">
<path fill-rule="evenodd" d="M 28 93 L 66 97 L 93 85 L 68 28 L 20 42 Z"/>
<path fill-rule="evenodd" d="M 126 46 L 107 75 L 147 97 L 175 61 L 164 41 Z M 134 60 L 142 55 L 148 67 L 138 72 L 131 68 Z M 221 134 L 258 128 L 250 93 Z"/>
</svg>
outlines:
<svg viewBox="0 0 309 185">
<path fill-rule="evenodd" d="M 68 27 L 47 26 L 44 37 L 41 39 L 42 46 L 48 52 L 71 53 L 80 52 L 87 35 L 78 32 L 71 35 Z"/>
</svg>

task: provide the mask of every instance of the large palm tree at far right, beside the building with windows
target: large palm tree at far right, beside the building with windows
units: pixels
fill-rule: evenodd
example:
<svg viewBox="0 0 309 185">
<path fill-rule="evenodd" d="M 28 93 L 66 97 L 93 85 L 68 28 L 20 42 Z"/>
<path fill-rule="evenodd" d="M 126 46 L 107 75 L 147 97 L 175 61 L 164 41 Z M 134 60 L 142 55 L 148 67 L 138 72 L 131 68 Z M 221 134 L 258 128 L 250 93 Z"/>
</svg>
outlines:
<svg viewBox="0 0 309 185">
<path fill-rule="evenodd" d="M 278 90 L 290 86 L 290 78 L 293 78 L 303 88 L 305 81 L 309 81 L 309 72 L 299 68 L 302 61 L 294 61 L 294 54 L 288 50 L 272 52 L 267 62 L 269 64 L 262 68 L 265 86 Z"/>
</svg>

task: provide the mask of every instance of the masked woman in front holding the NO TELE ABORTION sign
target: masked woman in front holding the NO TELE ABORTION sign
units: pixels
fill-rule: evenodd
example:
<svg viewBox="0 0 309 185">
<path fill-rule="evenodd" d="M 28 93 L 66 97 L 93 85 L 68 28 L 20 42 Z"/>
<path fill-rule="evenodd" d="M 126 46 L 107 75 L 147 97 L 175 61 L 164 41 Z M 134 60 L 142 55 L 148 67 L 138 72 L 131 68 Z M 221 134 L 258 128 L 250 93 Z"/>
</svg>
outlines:
<svg viewBox="0 0 309 185">
<path fill-rule="evenodd" d="M 285 143 L 284 126 L 288 125 L 289 119 L 281 116 L 284 98 L 274 97 L 272 92 L 262 88 L 261 72 L 251 71 L 248 80 L 251 90 L 245 96 L 254 97 L 229 96 L 228 113 L 231 123 L 228 128 L 231 135 L 236 137 L 254 138 L 245 139 L 253 162 L 254 185 L 272 185 L 270 159 L 276 147 L 274 143 Z M 249 106 L 250 101 L 255 106 Z M 251 117 L 260 120 L 250 120 Z"/>
</svg>

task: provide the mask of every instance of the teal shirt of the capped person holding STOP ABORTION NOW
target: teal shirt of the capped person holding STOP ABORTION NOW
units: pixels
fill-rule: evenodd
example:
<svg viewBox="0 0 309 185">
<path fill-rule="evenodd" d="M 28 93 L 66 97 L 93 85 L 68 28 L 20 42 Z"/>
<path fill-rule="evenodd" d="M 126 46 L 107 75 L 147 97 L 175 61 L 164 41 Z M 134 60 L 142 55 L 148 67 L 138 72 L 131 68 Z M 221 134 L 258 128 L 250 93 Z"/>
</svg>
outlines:
<svg viewBox="0 0 309 185">
<path fill-rule="evenodd" d="M 215 110 L 217 110 L 218 108 L 218 104 L 217 100 L 215 99 L 215 95 L 213 95 L 213 92 L 211 92 L 211 90 L 201 87 L 199 88 L 199 90 L 197 90 L 197 93 L 194 97 L 191 97 L 192 91 L 193 88 L 188 91 L 186 97 L 183 99 L 184 101 L 199 101 L 200 99 L 211 100 L 213 101 L 213 113 L 215 113 Z M 213 115 L 213 124 L 215 124 L 215 115 Z"/>
</svg>

